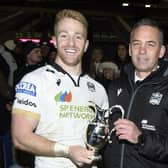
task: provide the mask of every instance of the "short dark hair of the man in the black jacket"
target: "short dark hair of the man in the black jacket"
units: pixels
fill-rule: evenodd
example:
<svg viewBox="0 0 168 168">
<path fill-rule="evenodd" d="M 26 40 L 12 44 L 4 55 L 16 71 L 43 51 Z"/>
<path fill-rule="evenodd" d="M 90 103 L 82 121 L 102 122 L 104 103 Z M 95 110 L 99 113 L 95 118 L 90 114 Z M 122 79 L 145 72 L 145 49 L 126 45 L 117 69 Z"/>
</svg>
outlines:
<svg viewBox="0 0 168 168">
<path fill-rule="evenodd" d="M 137 29 L 138 27 L 140 26 L 151 26 L 151 27 L 154 27 L 156 29 L 158 29 L 159 31 L 159 34 L 160 34 L 160 44 L 163 44 L 164 42 L 164 35 L 163 35 L 163 31 L 162 29 L 160 28 L 160 26 L 158 25 L 158 23 L 155 21 L 155 20 L 152 20 L 150 18 L 143 18 L 141 20 L 139 20 L 132 28 L 132 31 L 130 33 L 130 40 L 132 38 L 132 35 L 135 31 L 135 29 Z"/>
</svg>

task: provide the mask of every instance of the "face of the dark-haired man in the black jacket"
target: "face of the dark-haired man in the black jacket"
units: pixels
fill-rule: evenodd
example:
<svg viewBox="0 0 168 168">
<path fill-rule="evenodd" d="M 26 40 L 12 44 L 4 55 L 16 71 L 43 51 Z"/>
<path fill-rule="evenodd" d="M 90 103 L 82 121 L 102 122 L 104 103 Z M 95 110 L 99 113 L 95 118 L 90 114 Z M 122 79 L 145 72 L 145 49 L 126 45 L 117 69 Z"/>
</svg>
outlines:
<svg viewBox="0 0 168 168">
<path fill-rule="evenodd" d="M 157 28 L 143 25 L 132 33 L 129 53 L 137 75 L 144 78 L 158 67 L 158 59 L 164 55 L 164 47 L 160 44 Z"/>
</svg>

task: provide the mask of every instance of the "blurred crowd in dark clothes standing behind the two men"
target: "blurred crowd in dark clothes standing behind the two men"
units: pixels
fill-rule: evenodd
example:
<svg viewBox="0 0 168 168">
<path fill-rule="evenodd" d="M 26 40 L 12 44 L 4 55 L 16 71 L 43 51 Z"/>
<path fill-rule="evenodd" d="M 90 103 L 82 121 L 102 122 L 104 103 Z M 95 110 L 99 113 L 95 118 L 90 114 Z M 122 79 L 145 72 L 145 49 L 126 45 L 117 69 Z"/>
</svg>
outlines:
<svg viewBox="0 0 168 168">
<path fill-rule="evenodd" d="M 105 89 L 112 80 L 123 74 L 124 66 L 131 61 L 128 44 L 125 42 L 117 43 L 116 53 L 112 56 L 107 56 L 105 49 L 100 45 L 93 46 L 90 51 L 89 68 L 84 71 L 100 82 Z M 54 44 L 48 39 L 39 43 L 16 42 L 12 39 L 0 43 L 0 167 L 15 165 L 33 168 L 34 156 L 12 147 L 10 123 L 15 86 L 26 73 L 52 63 L 56 54 Z"/>
</svg>

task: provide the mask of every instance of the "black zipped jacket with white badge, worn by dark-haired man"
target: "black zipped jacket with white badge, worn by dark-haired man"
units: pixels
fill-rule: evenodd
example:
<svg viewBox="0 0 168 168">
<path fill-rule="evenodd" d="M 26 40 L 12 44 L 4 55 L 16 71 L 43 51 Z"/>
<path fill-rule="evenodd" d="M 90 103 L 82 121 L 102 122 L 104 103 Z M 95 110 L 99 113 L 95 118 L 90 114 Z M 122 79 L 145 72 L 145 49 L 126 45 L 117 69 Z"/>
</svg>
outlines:
<svg viewBox="0 0 168 168">
<path fill-rule="evenodd" d="M 151 73 L 139 86 L 134 84 L 134 68 L 126 67 L 126 75 L 109 86 L 110 106 L 120 104 L 125 118 L 132 120 L 143 136 L 139 144 L 119 141 L 112 136 L 112 144 L 105 148 L 105 168 L 168 168 L 168 63 Z M 110 127 L 119 117 L 110 118 Z"/>
</svg>

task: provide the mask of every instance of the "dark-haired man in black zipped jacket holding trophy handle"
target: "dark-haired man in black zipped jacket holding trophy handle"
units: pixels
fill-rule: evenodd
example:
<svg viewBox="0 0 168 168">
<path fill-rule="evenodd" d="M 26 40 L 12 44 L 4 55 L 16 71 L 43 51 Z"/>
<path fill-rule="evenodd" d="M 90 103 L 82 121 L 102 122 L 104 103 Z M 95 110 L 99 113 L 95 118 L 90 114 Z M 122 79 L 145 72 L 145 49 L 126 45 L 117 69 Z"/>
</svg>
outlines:
<svg viewBox="0 0 168 168">
<path fill-rule="evenodd" d="M 115 133 L 104 151 L 105 168 L 168 167 L 168 64 L 160 60 L 164 52 L 157 23 L 136 23 L 129 44 L 132 64 L 108 89 L 110 106 L 122 105 L 125 118 L 111 115 Z"/>
</svg>

